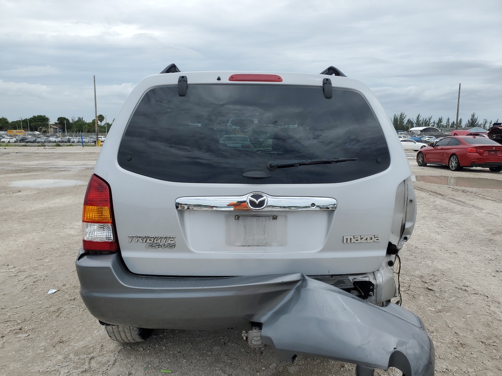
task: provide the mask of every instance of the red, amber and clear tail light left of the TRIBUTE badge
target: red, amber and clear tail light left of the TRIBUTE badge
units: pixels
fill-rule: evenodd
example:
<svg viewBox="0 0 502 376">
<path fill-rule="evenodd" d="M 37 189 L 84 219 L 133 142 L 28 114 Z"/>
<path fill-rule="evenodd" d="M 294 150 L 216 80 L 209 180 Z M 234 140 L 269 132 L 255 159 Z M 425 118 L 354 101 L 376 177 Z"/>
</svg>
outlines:
<svg viewBox="0 0 502 376">
<path fill-rule="evenodd" d="M 85 251 L 118 250 L 110 187 L 94 174 L 87 185 L 82 210 L 82 247 Z"/>
</svg>

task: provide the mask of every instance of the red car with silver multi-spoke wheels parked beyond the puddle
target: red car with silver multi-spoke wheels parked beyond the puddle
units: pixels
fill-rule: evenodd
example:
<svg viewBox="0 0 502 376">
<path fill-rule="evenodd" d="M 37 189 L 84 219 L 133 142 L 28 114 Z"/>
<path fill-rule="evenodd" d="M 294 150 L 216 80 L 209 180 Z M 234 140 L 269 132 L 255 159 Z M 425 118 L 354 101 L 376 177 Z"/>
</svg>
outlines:
<svg viewBox="0 0 502 376">
<path fill-rule="evenodd" d="M 451 136 L 424 147 L 417 153 L 417 164 L 442 164 L 458 171 L 462 167 L 488 167 L 502 171 L 502 145 L 479 136 Z"/>
</svg>

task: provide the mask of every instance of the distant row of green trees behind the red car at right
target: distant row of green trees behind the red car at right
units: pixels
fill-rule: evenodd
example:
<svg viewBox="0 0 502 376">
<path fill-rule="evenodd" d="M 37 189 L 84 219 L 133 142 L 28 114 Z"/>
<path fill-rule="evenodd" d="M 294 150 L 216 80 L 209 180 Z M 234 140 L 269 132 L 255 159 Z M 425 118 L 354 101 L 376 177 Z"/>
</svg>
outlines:
<svg viewBox="0 0 502 376">
<path fill-rule="evenodd" d="M 498 119 L 495 120 L 495 123 Z M 458 128 L 462 127 L 481 127 L 483 129 L 489 129 L 493 124 L 493 121 L 488 122 L 487 119 L 479 121 L 476 113 L 473 112 L 471 117 L 463 123 L 462 118 L 458 119 Z M 408 117 L 404 112 L 400 114 L 394 114 L 392 117 L 392 125 L 396 130 L 408 130 L 413 127 L 434 127 L 434 128 L 455 128 L 455 120 L 451 120 L 447 117 L 444 119 L 442 116 L 433 120 L 432 116 L 426 117 L 418 114 L 415 118 Z"/>
</svg>

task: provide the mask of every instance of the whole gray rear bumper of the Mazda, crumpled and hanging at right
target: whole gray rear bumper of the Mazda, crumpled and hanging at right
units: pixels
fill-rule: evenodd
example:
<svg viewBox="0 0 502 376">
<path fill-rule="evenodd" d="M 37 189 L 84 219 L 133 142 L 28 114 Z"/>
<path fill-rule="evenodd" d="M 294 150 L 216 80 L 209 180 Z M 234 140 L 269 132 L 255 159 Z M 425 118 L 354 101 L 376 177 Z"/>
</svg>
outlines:
<svg viewBox="0 0 502 376">
<path fill-rule="evenodd" d="M 131 274 L 118 254 L 76 262 L 82 299 L 99 320 L 145 328 L 220 329 L 263 323 L 277 355 L 328 357 L 434 375 L 434 346 L 420 319 L 379 307 L 303 274 L 175 278 Z"/>
</svg>

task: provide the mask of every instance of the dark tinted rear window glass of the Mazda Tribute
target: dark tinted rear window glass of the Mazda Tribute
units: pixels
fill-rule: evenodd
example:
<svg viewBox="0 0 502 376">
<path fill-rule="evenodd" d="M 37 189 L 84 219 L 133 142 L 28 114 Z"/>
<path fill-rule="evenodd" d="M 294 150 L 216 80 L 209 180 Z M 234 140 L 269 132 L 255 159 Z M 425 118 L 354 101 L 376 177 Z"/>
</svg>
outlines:
<svg viewBox="0 0 502 376">
<path fill-rule="evenodd" d="M 278 168 L 269 161 L 357 158 Z M 377 162 L 379 159 L 379 162 Z M 361 94 L 286 85 L 189 85 L 149 90 L 118 152 L 124 169 L 161 180 L 194 183 L 333 183 L 389 167 L 382 129 Z"/>
</svg>

